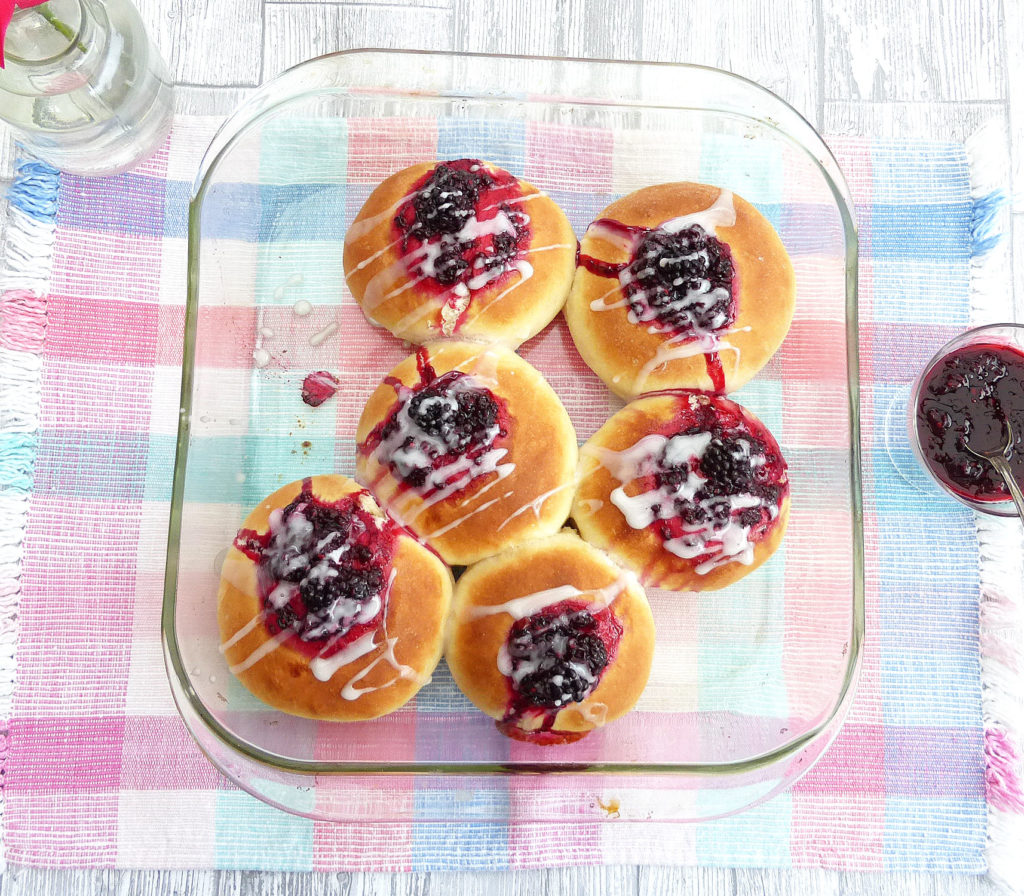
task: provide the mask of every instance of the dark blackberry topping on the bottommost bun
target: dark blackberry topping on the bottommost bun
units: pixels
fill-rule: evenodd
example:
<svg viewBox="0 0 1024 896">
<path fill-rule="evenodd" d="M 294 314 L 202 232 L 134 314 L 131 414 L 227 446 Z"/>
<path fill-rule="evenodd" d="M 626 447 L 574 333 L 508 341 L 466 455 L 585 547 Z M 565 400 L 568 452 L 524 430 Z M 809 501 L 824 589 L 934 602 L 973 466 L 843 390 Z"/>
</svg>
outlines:
<svg viewBox="0 0 1024 896">
<path fill-rule="evenodd" d="M 549 730 L 562 708 L 582 702 L 597 687 L 622 634 L 609 608 L 580 601 L 517 620 L 505 642 L 507 656 L 500 659 L 510 689 L 506 721 L 540 713 L 542 729 Z"/>
</svg>

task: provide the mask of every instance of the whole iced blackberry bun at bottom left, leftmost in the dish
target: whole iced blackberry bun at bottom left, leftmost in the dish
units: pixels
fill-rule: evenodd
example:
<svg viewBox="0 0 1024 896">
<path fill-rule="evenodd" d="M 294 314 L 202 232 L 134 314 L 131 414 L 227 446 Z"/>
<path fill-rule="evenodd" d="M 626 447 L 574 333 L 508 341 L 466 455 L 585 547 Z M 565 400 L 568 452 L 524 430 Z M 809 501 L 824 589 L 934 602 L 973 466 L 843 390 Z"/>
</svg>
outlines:
<svg viewBox="0 0 1024 896">
<path fill-rule="evenodd" d="M 271 707 L 374 719 L 406 703 L 441 655 L 452 570 L 344 476 L 266 498 L 227 552 L 221 651 Z"/>
</svg>

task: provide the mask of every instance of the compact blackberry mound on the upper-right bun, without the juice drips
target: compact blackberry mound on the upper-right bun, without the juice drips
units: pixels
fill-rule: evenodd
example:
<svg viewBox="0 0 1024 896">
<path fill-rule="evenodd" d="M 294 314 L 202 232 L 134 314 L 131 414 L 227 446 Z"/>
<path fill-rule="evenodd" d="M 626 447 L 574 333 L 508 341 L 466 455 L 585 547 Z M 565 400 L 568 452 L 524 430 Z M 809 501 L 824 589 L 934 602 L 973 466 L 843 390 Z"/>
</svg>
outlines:
<svg viewBox="0 0 1024 896">
<path fill-rule="evenodd" d="M 634 324 L 699 337 L 735 323 L 733 275 L 729 247 L 691 224 L 645 233 L 618 281 Z"/>
</svg>

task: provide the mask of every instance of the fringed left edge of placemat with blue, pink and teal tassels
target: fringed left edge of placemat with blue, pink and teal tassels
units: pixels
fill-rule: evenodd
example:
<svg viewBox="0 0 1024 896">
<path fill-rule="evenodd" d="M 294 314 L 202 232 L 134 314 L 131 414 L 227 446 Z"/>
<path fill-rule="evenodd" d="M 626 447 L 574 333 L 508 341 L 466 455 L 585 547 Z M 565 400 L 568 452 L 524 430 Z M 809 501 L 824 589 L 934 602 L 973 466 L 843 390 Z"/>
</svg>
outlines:
<svg viewBox="0 0 1024 896">
<path fill-rule="evenodd" d="M 0 243 L 0 870 L 6 865 L 7 732 L 59 185 L 55 168 L 18 162 L 7 191 L 7 226 Z"/>
</svg>

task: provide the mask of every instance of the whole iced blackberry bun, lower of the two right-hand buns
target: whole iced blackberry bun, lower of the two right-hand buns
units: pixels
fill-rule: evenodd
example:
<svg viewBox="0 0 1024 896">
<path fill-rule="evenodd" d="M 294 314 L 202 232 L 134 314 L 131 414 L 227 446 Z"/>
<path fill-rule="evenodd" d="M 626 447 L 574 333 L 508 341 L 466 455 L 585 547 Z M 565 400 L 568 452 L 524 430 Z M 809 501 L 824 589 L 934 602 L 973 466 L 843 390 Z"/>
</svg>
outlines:
<svg viewBox="0 0 1024 896">
<path fill-rule="evenodd" d="M 580 534 L 647 586 L 725 588 L 778 548 L 790 479 L 774 437 L 720 395 L 646 395 L 580 453 Z"/>
</svg>

